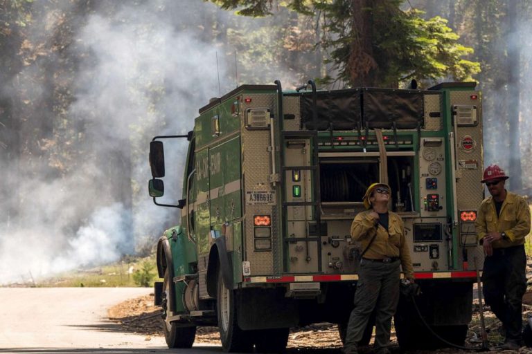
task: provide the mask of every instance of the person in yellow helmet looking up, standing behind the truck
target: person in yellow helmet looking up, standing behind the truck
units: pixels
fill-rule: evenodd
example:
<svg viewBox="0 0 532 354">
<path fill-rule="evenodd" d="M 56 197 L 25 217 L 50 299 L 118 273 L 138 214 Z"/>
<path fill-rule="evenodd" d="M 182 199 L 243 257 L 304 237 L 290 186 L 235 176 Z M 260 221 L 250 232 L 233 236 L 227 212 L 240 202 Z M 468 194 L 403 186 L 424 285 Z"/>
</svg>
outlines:
<svg viewBox="0 0 532 354">
<path fill-rule="evenodd" d="M 355 216 L 351 237 L 362 243 L 355 308 L 349 317 L 344 353 L 357 354 L 357 343 L 375 310 L 375 353 L 389 354 L 391 317 L 399 301 L 400 266 L 414 281 L 414 269 L 401 217 L 388 210 L 390 187 L 373 183 L 364 195 L 365 212 Z"/>
</svg>

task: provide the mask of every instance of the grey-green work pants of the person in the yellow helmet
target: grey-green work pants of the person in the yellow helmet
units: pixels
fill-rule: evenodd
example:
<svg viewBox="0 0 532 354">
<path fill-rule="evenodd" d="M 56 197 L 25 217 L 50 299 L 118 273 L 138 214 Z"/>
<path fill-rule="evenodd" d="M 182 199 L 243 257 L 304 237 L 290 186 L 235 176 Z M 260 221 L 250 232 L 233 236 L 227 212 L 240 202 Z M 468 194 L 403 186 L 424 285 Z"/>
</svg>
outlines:
<svg viewBox="0 0 532 354">
<path fill-rule="evenodd" d="M 400 262 L 381 263 L 362 259 L 358 272 L 355 308 L 349 317 L 344 347 L 353 351 L 362 340 L 375 310 L 375 350 L 389 346 L 391 317 L 399 301 Z"/>
</svg>

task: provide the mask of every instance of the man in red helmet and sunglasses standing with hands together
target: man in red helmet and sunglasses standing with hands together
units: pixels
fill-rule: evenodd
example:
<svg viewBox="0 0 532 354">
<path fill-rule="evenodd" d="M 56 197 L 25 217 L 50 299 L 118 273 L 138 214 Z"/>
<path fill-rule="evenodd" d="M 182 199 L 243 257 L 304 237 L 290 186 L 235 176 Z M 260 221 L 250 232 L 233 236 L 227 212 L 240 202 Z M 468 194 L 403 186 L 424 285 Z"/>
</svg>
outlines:
<svg viewBox="0 0 532 354">
<path fill-rule="evenodd" d="M 502 348 L 518 350 L 526 290 L 524 237 L 530 232 L 530 208 L 522 196 L 505 189 L 507 179 L 501 167 L 486 167 L 481 183 L 491 196 L 482 201 L 475 227 L 486 254 L 484 299 L 506 331 Z"/>
</svg>

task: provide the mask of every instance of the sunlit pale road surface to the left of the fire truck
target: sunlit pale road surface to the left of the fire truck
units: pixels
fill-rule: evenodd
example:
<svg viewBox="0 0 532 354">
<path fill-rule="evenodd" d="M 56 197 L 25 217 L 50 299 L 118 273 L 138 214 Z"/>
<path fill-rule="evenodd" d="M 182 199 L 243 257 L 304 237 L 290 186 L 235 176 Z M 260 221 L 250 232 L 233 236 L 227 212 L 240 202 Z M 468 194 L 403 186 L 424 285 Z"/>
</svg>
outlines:
<svg viewBox="0 0 532 354">
<path fill-rule="evenodd" d="M 150 291 L 0 288 L 0 353 L 173 353 L 163 337 L 128 333 L 107 319 L 107 308 Z M 220 352 L 219 347 L 179 351 Z"/>
</svg>

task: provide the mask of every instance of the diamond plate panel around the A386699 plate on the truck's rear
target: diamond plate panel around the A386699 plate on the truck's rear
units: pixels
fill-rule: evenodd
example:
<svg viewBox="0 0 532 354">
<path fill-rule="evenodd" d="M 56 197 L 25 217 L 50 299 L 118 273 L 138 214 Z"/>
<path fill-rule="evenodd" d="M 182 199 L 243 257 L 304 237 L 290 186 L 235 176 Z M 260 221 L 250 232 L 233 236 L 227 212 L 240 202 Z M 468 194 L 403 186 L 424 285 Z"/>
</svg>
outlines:
<svg viewBox="0 0 532 354">
<path fill-rule="evenodd" d="M 251 98 L 250 103 L 245 103 L 243 111 L 249 108 L 268 108 L 272 113 L 276 113 L 275 95 L 246 95 Z M 245 120 L 242 120 L 242 174 L 244 176 L 244 196 L 248 191 L 271 191 L 274 189 L 272 183 L 268 182 L 269 175 L 272 174 L 271 153 L 268 151 L 270 145 L 269 130 L 248 130 L 244 127 Z M 272 205 L 247 205 L 245 207 L 244 226 L 244 247 L 245 257 L 242 259 L 251 263 L 251 275 L 272 274 L 274 272 L 274 249 L 278 240 L 278 223 L 276 217 L 276 206 Z M 254 250 L 254 224 L 253 216 L 269 214 L 272 215 L 272 250 Z"/>
</svg>

